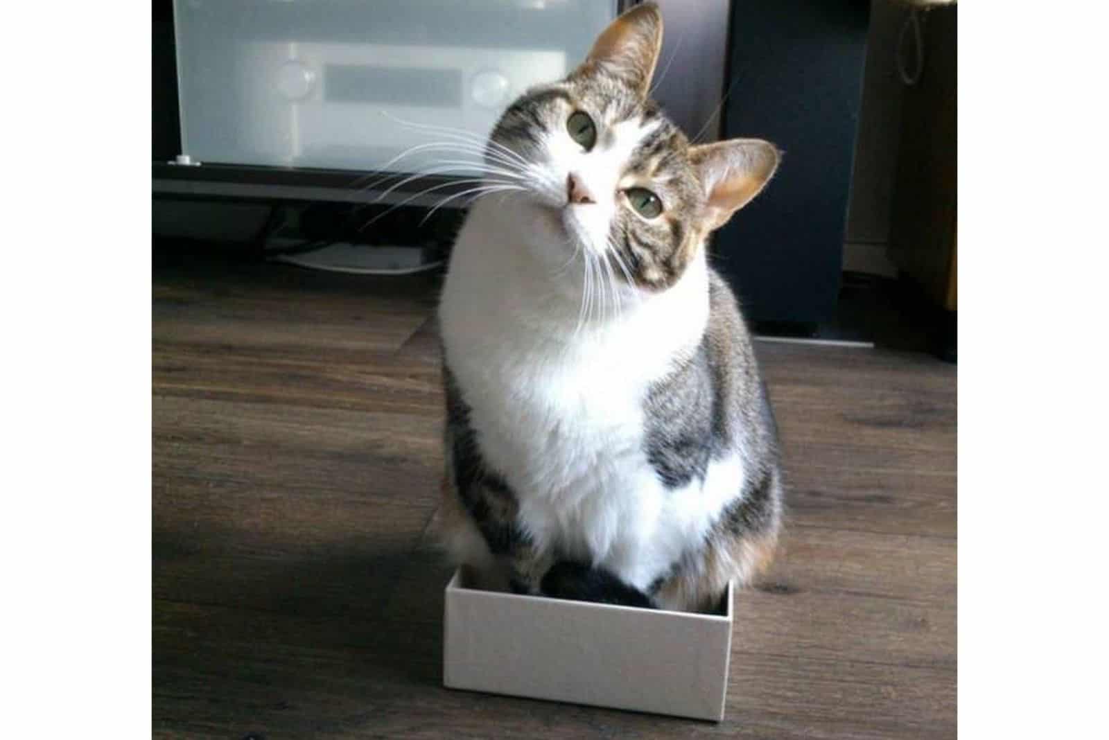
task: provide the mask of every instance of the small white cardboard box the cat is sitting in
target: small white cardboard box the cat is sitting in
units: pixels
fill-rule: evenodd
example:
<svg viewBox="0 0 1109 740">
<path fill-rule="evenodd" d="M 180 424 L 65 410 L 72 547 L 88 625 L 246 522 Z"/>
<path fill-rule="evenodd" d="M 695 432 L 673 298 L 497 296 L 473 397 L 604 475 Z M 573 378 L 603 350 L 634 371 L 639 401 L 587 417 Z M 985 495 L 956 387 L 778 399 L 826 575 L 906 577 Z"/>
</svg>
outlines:
<svg viewBox="0 0 1109 740">
<path fill-rule="evenodd" d="M 447 584 L 448 688 L 720 721 L 732 587 L 719 614 L 520 596 Z"/>
</svg>

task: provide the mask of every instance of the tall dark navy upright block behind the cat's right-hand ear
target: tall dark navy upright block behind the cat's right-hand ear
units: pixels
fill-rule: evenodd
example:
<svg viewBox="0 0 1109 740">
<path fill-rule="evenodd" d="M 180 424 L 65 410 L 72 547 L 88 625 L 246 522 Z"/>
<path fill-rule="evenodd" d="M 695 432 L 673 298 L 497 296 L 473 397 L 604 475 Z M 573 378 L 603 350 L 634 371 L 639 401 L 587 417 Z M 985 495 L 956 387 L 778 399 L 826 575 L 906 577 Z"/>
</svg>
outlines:
<svg viewBox="0 0 1109 740">
<path fill-rule="evenodd" d="M 732 2 L 722 137 L 783 151 L 713 244 L 752 321 L 815 325 L 835 309 L 868 19 L 858 1 Z"/>
</svg>

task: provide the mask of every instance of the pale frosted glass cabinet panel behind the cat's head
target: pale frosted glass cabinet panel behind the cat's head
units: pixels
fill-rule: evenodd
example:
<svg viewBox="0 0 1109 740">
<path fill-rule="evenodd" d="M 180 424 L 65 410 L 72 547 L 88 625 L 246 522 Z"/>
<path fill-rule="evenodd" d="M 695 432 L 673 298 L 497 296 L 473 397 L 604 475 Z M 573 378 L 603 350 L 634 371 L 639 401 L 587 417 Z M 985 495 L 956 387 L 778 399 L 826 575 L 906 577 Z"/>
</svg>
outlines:
<svg viewBox="0 0 1109 740">
<path fill-rule="evenodd" d="M 484 140 L 615 12 L 614 0 L 175 0 L 181 161 L 466 172 L 438 165 L 474 160 L 466 147 L 420 145 Z"/>
</svg>

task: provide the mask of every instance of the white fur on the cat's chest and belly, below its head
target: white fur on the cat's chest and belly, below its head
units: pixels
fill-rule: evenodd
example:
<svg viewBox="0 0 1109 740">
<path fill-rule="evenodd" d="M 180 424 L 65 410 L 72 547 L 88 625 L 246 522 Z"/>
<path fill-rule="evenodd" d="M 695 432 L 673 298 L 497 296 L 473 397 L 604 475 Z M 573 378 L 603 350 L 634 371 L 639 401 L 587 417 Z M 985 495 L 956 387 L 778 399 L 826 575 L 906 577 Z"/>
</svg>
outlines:
<svg viewBox="0 0 1109 740">
<path fill-rule="evenodd" d="M 739 454 L 676 491 L 647 460 L 643 399 L 704 331 L 705 265 L 576 332 L 580 301 L 566 281 L 580 274 L 552 275 L 491 207 L 476 206 L 459 235 L 440 309 L 447 362 L 481 452 L 541 551 L 645 588 L 742 484 Z"/>
</svg>

